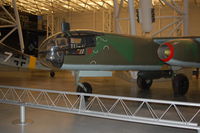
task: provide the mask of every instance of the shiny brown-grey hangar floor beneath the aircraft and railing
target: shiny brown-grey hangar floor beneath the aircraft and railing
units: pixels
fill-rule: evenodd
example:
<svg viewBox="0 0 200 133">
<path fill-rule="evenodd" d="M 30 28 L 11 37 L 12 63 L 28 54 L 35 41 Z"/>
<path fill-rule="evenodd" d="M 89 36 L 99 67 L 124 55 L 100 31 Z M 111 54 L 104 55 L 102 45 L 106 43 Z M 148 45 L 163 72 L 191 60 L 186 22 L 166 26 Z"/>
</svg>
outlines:
<svg viewBox="0 0 200 133">
<path fill-rule="evenodd" d="M 155 81 L 149 91 L 141 91 L 135 81 L 128 82 L 117 75 L 112 78 L 82 78 L 92 84 L 95 94 L 118 95 L 128 97 L 143 97 L 151 99 L 200 102 L 200 81 L 192 78 L 190 90 L 185 97 L 174 97 L 171 80 Z M 74 91 L 74 78 L 71 72 L 57 72 L 55 78 L 50 78 L 45 71 L 22 71 L 0 69 L 0 84 L 41 89 L 56 89 Z M 0 104 L 1 133 L 195 133 L 196 131 L 144 125 L 108 119 L 100 119 L 67 113 L 40 109 L 27 109 L 27 118 L 33 124 L 20 127 L 12 124 L 18 118 L 19 107 Z"/>
</svg>

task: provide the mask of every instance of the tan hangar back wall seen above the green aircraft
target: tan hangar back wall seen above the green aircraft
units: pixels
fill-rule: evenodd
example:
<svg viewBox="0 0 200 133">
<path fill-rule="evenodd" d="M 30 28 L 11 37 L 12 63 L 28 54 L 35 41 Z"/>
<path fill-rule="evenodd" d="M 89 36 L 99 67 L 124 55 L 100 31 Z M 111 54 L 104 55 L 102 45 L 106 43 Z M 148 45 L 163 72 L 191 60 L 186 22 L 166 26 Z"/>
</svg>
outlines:
<svg viewBox="0 0 200 133">
<path fill-rule="evenodd" d="M 177 15 L 174 10 L 168 6 L 156 6 L 155 14 L 156 16 L 172 16 Z M 128 17 L 128 9 L 123 8 L 120 14 L 121 18 Z M 44 17 L 45 18 L 45 17 Z M 59 22 L 57 21 L 59 19 Z M 45 19 L 44 19 L 45 20 Z M 50 20 L 51 21 L 51 20 Z M 114 32 L 114 18 L 113 11 L 91 11 L 91 12 L 77 12 L 77 13 L 65 13 L 65 14 L 54 14 L 54 28 L 55 32 L 60 31 L 61 22 L 67 21 L 71 25 L 71 29 L 90 29 L 102 32 Z M 175 21 L 173 18 L 156 19 L 153 23 L 154 33 L 161 29 L 163 26 Z M 130 34 L 129 21 L 121 20 L 121 29 L 123 34 Z M 164 32 L 158 34 L 157 36 L 169 36 L 169 32 L 175 28 L 176 25 L 171 26 Z M 141 25 L 136 22 L 137 35 L 142 35 Z M 183 33 L 183 26 L 180 26 L 172 36 L 181 36 Z M 150 34 L 150 36 L 151 36 Z M 200 36 L 200 6 L 190 3 L 189 5 L 189 35 L 199 35 Z"/>
</svg>

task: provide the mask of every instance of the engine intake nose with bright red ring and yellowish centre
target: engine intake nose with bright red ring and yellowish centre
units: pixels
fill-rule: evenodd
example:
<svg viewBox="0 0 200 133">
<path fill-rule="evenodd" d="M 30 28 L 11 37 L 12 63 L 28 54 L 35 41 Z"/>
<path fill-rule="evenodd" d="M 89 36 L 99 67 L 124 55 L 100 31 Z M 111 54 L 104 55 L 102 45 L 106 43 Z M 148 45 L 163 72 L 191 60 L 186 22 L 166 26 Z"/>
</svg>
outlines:
<svg viewBox="0 0 200 133">
<path fill-rule="evenodd" d="M 158 48 L 158 57 L 163 62 L 168 62 L 174 57 L 174 47 L 170 43 L 164 43 Z"/>
</svg>

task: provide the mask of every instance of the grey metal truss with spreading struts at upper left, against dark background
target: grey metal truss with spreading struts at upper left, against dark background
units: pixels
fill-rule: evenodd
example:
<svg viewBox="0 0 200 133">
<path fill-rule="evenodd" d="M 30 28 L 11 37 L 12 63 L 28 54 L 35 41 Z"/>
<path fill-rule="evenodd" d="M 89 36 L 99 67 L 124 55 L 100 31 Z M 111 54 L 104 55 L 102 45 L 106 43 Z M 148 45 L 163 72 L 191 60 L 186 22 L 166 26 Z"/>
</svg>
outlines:
<svg viewBox="0 0 200 133">
<path fill-rule="evenodd" d="M 1 0 L 0 2 L 4 2 Z M 21 51 L 24 52 L 24 40 L 22 35 L 22 28 L 19 18 L 19 13 L 17 9 L 16 0 L 11 1 L 11 6 L 13 7 L 13 13 L 9 12 L 3 4 L 0 3 L 0 8 L 4 11 L 4 14 L 0 16 L 0 29 L 2 28 L 11 28 L 10 32 L 8 32 L 5 36 L 0 39 L 0 43 L 3 43 L 13 32 L 18 31 L 20 48 Z M 6 16 L 6 17 L 5 17 Z"/>
</svg>

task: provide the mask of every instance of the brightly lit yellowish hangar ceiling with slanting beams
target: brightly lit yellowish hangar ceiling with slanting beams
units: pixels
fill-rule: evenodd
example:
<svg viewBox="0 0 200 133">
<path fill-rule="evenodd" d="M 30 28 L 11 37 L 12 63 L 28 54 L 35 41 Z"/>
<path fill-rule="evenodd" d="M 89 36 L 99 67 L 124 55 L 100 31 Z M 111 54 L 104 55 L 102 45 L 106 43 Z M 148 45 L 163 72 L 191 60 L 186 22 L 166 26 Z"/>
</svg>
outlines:
<svg viewBox="0 0 200 133">
<path fill-rule="evenodd" d="M 36 15 L 64 12 L 83 12 L 100 9 L 113 9 L 113 0 L 16 0 L 19 10 Z M 135 0 L 138 5 L 139 0 Z M 154 5 L 163 5 L 162 0 L 152 0 Z M 170 0 L 169 0 L 170 1 Z M 182 2 L 183 0 L 175 0 Z M 192 0 L 198 4 L 199 0 Z M 11 0 L 0 0 L 0 4 L 10 5 Z M 128 0 L 124 0 L 124 7 Z"/>
</svg>

